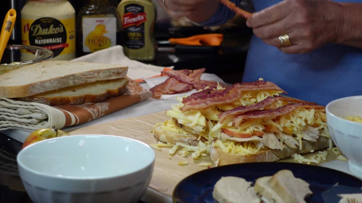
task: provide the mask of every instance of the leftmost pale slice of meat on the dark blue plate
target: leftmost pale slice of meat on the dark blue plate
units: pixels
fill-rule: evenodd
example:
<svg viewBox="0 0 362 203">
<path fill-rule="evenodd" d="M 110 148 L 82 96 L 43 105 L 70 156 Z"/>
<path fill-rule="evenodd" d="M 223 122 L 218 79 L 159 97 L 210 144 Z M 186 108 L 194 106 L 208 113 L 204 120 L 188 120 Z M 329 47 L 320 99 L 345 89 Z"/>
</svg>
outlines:
<svg viewBox="0 0 362 203">
<path fill-rule="evenodd" d="M 212 197 L 219 203 L 260 203 L 260 197 L 244 178 L 221 177 L 214 186 Z"/>
</svg>

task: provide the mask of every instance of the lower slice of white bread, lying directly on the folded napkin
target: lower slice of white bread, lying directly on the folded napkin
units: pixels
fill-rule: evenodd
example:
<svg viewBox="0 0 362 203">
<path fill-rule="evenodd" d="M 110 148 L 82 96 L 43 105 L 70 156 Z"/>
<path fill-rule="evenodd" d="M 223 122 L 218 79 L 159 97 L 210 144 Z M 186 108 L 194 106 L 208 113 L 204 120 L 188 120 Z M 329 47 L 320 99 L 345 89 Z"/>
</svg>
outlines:
<svg viewBox="0 0 362 203">
<path fill-rule="evenodd" d="M 104 102 L 111 97 L 123 94 L 127 89 L 127 84 L 128 78 L 96 81 L 16 99 L 51 106 Z"/>
</svg>

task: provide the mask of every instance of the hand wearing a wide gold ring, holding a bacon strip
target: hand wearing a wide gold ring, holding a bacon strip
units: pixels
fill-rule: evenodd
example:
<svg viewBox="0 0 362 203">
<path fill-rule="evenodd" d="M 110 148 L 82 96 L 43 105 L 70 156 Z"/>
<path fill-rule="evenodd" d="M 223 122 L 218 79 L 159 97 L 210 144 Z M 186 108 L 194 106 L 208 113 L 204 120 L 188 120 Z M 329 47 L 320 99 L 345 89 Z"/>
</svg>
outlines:
<svg viewBox="0 0 362 203">
<path fill-rule="evenodd" d="M 328 0 L 285 0 L 253 13 L 247 25 L 265 43 L 285 53 L 307 53 L 334 43 L 341 32 L 341 4 Z M 279 36 L 287 34 L 290 46 Z"/>
</svg>

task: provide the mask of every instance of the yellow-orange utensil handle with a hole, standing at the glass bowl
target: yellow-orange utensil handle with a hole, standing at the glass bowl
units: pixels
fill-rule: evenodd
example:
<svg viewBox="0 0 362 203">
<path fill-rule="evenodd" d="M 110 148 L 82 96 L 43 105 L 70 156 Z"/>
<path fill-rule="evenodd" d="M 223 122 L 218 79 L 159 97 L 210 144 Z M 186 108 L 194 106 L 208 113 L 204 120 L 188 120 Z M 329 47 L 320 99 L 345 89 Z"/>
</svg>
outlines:
<svg viewBox="0 0 362 203">
<path fill-rule="evenodd" d="M 16 11 L 14 9 L 10 9 L 5 16 L 3 27 L 1 28 L 0 61 L 1 58 L 3 58 L 5 47 L 9 42 L 11 32 L 13 31 L 14 28 L 15 20 L 16 20 Z"/>
</svg>

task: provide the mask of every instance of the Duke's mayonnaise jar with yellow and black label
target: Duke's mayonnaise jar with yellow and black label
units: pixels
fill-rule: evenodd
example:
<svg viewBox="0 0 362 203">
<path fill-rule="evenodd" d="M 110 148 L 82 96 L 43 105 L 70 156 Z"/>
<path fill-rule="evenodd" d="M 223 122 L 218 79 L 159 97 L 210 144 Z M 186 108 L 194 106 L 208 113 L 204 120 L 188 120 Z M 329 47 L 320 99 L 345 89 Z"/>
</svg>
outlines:
<svg viewBox="0 0 362 203">
<path fill-rule="evenodd" d="M 21 29 L 23 45 L 50 49 L 56 60 L 75 58 L 75 10 L 67 0 L 29 0 L 21 10 Z"/>
</svg>

